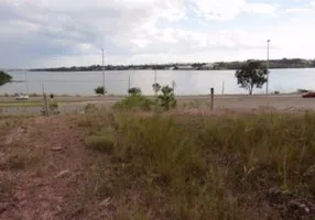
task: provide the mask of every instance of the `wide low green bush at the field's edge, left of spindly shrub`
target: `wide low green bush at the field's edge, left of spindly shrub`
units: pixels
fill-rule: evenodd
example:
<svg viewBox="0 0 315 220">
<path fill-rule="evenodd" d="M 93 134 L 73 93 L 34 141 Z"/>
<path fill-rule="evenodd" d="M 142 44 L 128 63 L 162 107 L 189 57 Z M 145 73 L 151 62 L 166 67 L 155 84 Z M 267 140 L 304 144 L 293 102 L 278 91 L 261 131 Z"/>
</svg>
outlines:
<svg viewBox="0 0 315 220">
<path fill-rule="evenodd" d="M 126 97 L 113 106 L 117 110 L 151 110 L 152 101 L 141 95 Z"/>
</svg>

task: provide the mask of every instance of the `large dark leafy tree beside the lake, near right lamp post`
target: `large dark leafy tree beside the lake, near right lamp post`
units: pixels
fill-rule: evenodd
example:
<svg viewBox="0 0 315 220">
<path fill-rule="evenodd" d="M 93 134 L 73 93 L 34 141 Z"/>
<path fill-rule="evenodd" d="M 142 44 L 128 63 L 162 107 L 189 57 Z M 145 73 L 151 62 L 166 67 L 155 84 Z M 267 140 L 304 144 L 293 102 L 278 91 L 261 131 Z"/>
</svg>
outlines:
<svg viewBox="0 0 315 220">
<path fill-rule="evenodd" d="M 247 62 L 236 70 L 237 84 L 252 95 L 254 87 L 262 88 L 267 82 L 267 68 L 261 62 Z"/>
</svg>

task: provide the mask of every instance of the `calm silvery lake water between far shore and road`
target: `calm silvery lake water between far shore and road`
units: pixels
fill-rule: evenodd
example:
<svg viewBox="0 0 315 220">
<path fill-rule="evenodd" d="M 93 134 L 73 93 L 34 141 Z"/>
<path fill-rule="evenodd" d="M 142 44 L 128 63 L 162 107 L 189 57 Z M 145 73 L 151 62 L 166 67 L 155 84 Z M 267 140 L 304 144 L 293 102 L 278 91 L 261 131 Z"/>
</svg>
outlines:
<svg viewBox="0 0 315 220">
<path fill-rule="evenodd" d="M 11 72 L 14 80 L 29 81 L 29 91 L 42 92 L 42 84 L 46 92 L 58 95 L 93 95 L 97 86 L 102 85 L 101 72 Z M 106 72 L 108 94 L 126 95 L 129 87 L 140 87 L 144 95 L 152 95 L 154 70 Z M 237 85 L 235 70 L 156 70 L 158 82 L 171 85 L 176 82 L 177 95 L 205 95 L 215 88 L 216 94 L 247 94 Z M 269 90 L 273 92 L 292 92 L 298 88 L 315 89 L 315 68 L 271 69 Z M 254 94 L 263 94 L 265 88 L 254 89 Z M 26 92 L 25 82 L 7 84 L 0 87 L 0 94 Z"/>
</svg>

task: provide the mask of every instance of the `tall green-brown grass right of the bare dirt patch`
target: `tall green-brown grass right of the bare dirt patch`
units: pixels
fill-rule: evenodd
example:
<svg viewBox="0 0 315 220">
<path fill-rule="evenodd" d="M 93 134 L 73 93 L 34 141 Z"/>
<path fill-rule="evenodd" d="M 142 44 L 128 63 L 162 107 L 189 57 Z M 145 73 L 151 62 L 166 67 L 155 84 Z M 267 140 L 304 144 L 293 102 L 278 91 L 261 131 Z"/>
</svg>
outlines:
<svg viewBox="0 0 315 220">
<path fill-rule="evenodd" d="M 315 217 L 313 113 L 110 118 L 113 219 Z"/>
</svg>

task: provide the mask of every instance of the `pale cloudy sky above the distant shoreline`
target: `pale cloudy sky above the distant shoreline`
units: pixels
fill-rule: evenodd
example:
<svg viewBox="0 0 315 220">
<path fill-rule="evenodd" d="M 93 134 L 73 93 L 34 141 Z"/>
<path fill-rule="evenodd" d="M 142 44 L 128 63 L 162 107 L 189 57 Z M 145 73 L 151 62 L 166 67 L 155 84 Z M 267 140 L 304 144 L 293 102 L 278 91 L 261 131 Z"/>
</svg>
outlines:
<svg viewBox="0 0 315 220">
<path fill-rule="evenodd" d="M 315 0 L 0 0 L 0 68 L 315 58 Z"/>
</svg>

